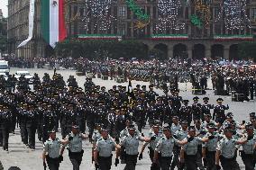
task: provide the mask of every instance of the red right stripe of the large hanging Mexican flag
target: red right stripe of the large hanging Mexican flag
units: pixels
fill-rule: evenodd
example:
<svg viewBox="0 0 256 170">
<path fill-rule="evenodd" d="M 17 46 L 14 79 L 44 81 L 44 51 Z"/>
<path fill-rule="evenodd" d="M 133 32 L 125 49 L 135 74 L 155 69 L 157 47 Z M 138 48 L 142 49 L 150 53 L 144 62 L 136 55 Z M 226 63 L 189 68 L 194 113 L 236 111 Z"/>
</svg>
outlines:
<svg viewBox="0 0 256 170">
<path fill-rule="evenodd" d="M 65 13 L 64 13 L 64 0 L 59 0 L 59 40 L 65 40 L 67 31 L 65 27 Z"/>
</svg>

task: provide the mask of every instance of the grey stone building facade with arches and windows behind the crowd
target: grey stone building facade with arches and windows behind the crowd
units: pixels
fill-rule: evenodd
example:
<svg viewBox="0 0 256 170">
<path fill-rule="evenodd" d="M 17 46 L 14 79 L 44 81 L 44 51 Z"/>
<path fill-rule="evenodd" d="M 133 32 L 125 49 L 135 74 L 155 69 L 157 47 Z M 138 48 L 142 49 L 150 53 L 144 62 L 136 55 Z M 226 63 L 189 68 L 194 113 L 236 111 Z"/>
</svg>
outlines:
<svg viewBox="0 0 256 170">
<path fill-rule="evenodd" d="M 156 28 L 160 22 L 158 0 L 134 0 L 137 5 L 142 7 L 142 12 L 150 16 L 149 22 L 142 29 L 134 28 L 134 22 L 138 22 L 138 19 L 127 6 L 126 0 L 113 0 L 107 12 L 108 16 L 112 16 L 109 19 L 111 23 L 104 31 L 99 29 L 98 19 L 89 13 L 90 8 L 86 2 L 88 1 L 66 0 L 65 18 L 69 37 L 78 37 L 81 34 L 84 36 L 107 34 L 122 36 L 123 40 L 141 40 L 149 50 L 160 49 L 168 58 L 237 58 L 237 44 L 242 40 L 252 40 L 251 28 L 227 30 L 223 21 L 215 22 L 223 0 L 212 0 L 211 18 L 207 29 L 205 27 L 198 29 L 191 23 L 190 16 L 197 11 L 195 4 L 190 3 L 182 4 L 178 9 L 178 20 L 185 23 L 185 28 L 164 31 L 159 31 Z M 181 2 L 185 1 L 181 0 Z M 196 2 L 196 0 L 191 2 Z M 28 35 L 29 0 L 9 0 L 8 7 L 9 52 L 18 57 L 49 57 L 51 49 L 41 39 L 40 0 L 36 0 L 34 37 L 21 49 L 16 49 L 16 47 Z M 251 25 L 255 25 L 256 0 L 247 0 L 245 12 Z M 166 37 L 158 37 L 160 35 Z M 177 39 L 177 35 L 184 37 Z"/>
</svg>

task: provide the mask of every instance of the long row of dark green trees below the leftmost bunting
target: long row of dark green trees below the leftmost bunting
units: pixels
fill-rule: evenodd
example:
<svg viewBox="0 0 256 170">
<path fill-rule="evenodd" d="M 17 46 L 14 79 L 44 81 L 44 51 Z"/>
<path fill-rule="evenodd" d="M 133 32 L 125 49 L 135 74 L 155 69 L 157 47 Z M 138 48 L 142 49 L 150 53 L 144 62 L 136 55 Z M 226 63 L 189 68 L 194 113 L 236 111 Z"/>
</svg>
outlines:
<svg viewBox="0 0 256 170">
<path fill-rule="evenodd" d="M 65 40 L 55 48 L 59 57 L 67 58 L 147 58 L 147 48 L 135 40 Z"/>
</svg>

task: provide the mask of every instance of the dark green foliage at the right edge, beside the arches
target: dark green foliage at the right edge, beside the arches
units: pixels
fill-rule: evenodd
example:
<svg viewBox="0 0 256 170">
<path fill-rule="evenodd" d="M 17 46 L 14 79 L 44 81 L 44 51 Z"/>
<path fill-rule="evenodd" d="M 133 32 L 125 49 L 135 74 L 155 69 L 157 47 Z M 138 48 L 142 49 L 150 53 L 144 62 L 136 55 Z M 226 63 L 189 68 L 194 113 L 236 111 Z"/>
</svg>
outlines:
<svg viewBox="0 0 256 170">
<path fill-rule="evenodd" d="M 256 42 L 243 42 L 238 45 L 239 58 L 253 58 L 256 62 Z"/>
</svg>

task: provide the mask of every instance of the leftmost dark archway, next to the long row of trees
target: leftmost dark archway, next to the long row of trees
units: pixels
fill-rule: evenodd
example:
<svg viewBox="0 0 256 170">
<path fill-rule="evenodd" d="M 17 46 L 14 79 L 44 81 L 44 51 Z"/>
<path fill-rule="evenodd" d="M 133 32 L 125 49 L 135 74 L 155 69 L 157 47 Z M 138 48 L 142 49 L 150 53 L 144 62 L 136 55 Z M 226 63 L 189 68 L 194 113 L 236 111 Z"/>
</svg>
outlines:
<svg viewBox="0 0 256 170">
<path fill-rule="evenodd" d="M 159 59 L 167 59 L 168 58 L 168 46 L 166 44 L 157 44 L 153 49 L 151 49 L 151 57 L 159 58 Z"/>
</svg>

